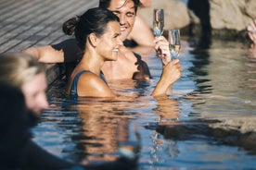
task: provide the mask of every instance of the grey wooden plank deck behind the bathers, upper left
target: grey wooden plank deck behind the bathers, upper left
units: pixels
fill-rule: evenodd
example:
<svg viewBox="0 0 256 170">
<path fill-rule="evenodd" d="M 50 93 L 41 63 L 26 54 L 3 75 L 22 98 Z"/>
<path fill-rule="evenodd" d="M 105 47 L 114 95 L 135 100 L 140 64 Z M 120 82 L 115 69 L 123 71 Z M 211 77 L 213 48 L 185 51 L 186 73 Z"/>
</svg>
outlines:
<svg viewBox="0 0 256 170">
<path fill-rule="evenodd" d="M 0 53 L 65 40 L 69 37 L 62 32 L 62 23 L 97 5 L 97 0 L 0 0 Z M 49 69 L 51 83 L 58 68 Z"/>
</svg>

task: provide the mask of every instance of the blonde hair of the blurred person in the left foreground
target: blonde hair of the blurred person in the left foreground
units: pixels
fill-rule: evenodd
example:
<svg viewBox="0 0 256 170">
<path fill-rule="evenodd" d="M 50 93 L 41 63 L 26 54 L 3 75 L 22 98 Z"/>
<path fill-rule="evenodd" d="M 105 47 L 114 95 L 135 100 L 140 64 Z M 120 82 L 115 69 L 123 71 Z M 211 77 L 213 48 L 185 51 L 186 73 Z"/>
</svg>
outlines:
<svg viewBox="0 0 256 170">
<path fill-rule="evenodd" d="M 0 55 L 0 82 L 17 88 L 40 73 L 45 73 L 46 66 L 31 55 L 9 53 Z"/>
</svg>

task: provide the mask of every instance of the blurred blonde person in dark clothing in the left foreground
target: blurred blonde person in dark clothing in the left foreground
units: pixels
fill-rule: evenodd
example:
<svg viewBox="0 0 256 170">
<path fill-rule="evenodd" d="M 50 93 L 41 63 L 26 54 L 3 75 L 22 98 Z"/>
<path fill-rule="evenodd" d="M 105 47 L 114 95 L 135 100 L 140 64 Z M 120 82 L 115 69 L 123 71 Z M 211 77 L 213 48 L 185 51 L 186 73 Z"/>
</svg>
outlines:
<svg viewBox="0 0 256 170">
<path fill-rule="evenodd" d="M 45 65 L 30 55 L 0 55 L 1 169 L 136 169 L 137 155 L 103 164 L 77 164 L 46 152 L 30 128 L 48 108 Z M 5 84 L 5 85 L 2 85 Z M 133 153 L 133 151 L 124 151 Z M 131 155 L 131 154 L 130 154 Z"/>
</svg>

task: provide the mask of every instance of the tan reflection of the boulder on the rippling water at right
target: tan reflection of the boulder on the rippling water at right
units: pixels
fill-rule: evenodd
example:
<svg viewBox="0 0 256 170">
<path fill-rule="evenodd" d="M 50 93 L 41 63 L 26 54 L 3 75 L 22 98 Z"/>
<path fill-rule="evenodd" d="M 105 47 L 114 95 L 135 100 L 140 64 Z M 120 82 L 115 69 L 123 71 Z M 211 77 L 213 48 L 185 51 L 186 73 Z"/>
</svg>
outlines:
<svg viewBox="0 0 256 170">
<path fill-rule="evenodd" d="M 209 116 L 255 114 L 255 66 L 247 49 L 236 42 L 214 42 L 211 49 L 201 50 L 194 67 L 195 82 L 204 103 L 198 107 Z M 207 56 L 207 61 L 204 60 Z M 250 67 L 248 67 L 250 66 Z"/>
</svg>

